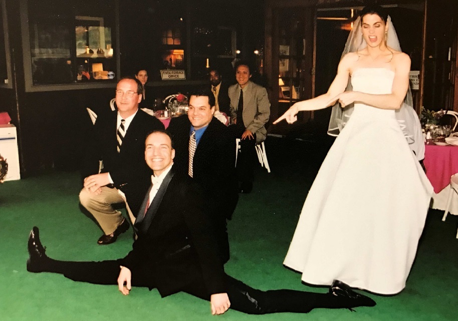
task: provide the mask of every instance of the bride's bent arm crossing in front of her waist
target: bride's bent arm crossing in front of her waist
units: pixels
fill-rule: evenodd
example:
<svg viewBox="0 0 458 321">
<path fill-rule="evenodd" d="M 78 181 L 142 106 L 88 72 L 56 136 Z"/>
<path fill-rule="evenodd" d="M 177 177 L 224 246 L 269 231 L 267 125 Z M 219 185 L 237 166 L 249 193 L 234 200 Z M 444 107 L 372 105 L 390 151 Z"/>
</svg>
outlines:
<svg viewBox="0 0 458 321">
<path fill-rule="evenodd" d="M 398 54 L 394 61 L 394 67 L 395 72 L 391 93 L 370 94 L 360 91 L 346 91 L 338 94 L 334 97 L 334 100 L 339 100 L 345 106 L 352 102 L 361 102 L 380 109 L 400 108 L 409 87 L 409 56 L 405 53 Z"/>
</svg>

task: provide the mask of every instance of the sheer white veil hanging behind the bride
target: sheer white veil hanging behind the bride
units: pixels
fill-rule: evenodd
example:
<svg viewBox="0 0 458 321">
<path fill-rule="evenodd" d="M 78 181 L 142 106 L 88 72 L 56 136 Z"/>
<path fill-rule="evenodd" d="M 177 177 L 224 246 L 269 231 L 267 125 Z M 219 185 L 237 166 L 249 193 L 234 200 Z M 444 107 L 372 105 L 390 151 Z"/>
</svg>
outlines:
<svg viewBox="0 0 458 321">
<path fill-rule="evenodd" d="M 388 16 L 386 21 L 388 25 L 388 31 L 386 34 L 386 44 L 387 46 L 393 48 L 396 51 L 401 51 L 401 46 L 399 45 L 399 39 L 394 29 L 393 23 L 391 22 L 391 17 Z M 355 22 L 353 22 L 353 28 L 348 35 L 347 42 L 345 44 L 345 49 L 342 52 L 342 57 L 348 52 L 356 52 L 364 49 L 367 46 L 366 41 L 362 36 L 361 32 L 361 17 L 358 17 Z M 345 90 L 352 90 L 351 78 L 348 80 L 348 85 Z M 410 91 L 410 86 L 405 95 L 404 102 L 402 103 L 399 109 L 396 109 L 396 119 L 399 122 L 399 126 L 404 133 L 407 142 L 409 143 L 410 149 L 413 150 L 418 160 L 424 158 L 424 143 L 423 143 L 423 134 L 421 132 L 421 124 L 418 119 L 418 115 L 413 109 L 413 100 L 412 93 Z M 328 134 L 331 136 L 337 136 L 339 132 L 345 127 L 348 119 L 353 112 L 354 104 L 350 104 L 342 108 L 339 102 L 336 102 L 332 107 L 331 118 L 329 119 Z"/>
</svg>

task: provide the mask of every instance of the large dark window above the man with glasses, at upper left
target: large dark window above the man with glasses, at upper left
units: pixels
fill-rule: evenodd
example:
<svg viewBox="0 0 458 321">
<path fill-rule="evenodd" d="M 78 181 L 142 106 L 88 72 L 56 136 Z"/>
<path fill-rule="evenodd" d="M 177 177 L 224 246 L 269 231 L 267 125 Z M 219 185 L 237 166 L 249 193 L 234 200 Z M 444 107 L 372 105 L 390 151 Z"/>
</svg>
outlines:
<svg viewBox="0 0 458 321">
<path fill-rule="evenodd" d="M 22 0 L 26 90 L 115 82 L 117 2 Z"/>
</svg>

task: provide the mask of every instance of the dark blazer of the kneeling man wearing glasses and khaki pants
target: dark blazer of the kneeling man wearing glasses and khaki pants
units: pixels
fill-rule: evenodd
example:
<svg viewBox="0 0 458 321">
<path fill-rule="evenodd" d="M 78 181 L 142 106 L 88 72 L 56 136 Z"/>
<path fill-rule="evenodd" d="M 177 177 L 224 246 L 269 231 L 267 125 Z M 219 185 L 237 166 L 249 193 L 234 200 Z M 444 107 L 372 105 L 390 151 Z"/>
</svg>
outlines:
<svg viewBox="0 0 458 321">
<path fill-rule="evenodd" d="M 110 172 L 115 187 L 124 192 L 128 182 L 145 181 L 151 169 L 145 163 L 145 139 L 149 132 L 164 129 L 159 119 L 138 110 L 127 128 L 118 153 L 116 137 L 117 111 L 101 114 L 92 128 L 82 168 L 83 178 L 97 174 L 99 160 L 103 161 L 101 172 Z"/>
</svg>

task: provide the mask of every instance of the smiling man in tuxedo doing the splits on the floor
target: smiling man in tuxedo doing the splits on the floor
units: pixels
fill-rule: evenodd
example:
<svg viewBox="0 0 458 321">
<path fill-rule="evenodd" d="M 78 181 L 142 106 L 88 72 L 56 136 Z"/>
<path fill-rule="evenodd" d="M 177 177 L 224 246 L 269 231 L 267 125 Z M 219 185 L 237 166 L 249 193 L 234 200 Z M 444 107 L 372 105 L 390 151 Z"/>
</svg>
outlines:
<svg viewBox="0 0 458 321">
<path fill-rule="evenodd" d="M 202 209 L 205 202 L 200 189 L 188 175 L 175 173 L 174 155 L 167 133 L 155 131 L 146 138 L 145 159 L 154 175 L 134 224 L 138 238 L 126 257 L 100 262 L 55 260 L 46 255 L 39 229 L 34 227 L 27 269 L 61 273 L 76 281 L 117 284 L 124 295 L 132 285 L 157 288 L 161 296 L 184 291 L 209 300 L 212 314 L 224 313 L 229 307 L 263 314 L 375 305 L 371 298 L 339 281 L 328 293 L 261 291 L 227 275 Z"/>
</svg>

